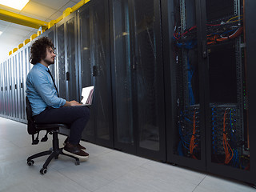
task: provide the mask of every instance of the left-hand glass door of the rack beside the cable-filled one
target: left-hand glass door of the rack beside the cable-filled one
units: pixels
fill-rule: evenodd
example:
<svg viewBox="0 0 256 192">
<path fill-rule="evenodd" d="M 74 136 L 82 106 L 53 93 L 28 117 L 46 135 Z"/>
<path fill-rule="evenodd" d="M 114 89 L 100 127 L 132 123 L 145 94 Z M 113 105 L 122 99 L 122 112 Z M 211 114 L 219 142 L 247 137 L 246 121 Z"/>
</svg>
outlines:
<svg viewBox="0 0 256 192">
<path fill-rule="evenodd" d="M 111 2 L 111 60 L 114 101 L 114 147 L 135 153 L 134 143 L 134 74 L 130 37 L 129 1 Z"/>
</svg>

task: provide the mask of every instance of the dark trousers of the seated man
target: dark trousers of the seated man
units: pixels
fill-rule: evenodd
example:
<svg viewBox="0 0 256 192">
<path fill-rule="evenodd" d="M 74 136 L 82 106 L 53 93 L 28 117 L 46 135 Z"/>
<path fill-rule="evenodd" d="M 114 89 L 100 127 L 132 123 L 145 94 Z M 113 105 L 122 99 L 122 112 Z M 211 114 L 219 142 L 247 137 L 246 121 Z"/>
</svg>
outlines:
<svg viewBox="0 0 256 192">
<path fill-rule="evenodd" d="M 82 137 L 82 131 L 90 118 L 87 106 L 63 106 L 60 108 L 47 107 L 41 114 L 34 116 L 36 123 L 63 123 L 70 126 L 69 141 L 77 145 Z"/>
</svg>

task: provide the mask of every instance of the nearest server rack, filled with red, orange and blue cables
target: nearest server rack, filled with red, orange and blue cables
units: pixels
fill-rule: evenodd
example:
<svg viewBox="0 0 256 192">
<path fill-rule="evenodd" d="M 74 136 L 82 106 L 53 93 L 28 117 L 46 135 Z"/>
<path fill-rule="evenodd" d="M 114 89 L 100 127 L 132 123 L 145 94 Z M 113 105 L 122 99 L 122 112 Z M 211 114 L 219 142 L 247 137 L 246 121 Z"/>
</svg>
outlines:
<svg viewBox="0 0 256 192">
<path fill-rule="evenodd" d="M 167 137 L 171 138 L 167 140 L 167 160 L 255 183 L 255 149 L 251 139 L 255 114 L 250 110 L 255 104 L 250 76 L 255 67 L 252 55 L 247 54 L 254 46 L 252 42 L 247 45 L 246 40 L 252 38 L 255 28 L 248 20 L 254 15 L 249 6 L 256 4 L 195 0 L 191 10 L 190 3 L 178 0 L 162 4 L 166 85 L 171 85 L 166 87 L 166 98 L 170 98 L 166 116 L 172 117 L 166 118 Z M 196 25 L 186 26 L 189 22 L 184 25 L 182 21 L 191 18 L 191 11 L 196 15 L 192 17 Z M 186 54 L 191 50 L 197 53 Z M 186 113 L 181 113 L 178 107 L 186 102 L 184 96 L 194 103 L 186 104 Z"/>
</svg>

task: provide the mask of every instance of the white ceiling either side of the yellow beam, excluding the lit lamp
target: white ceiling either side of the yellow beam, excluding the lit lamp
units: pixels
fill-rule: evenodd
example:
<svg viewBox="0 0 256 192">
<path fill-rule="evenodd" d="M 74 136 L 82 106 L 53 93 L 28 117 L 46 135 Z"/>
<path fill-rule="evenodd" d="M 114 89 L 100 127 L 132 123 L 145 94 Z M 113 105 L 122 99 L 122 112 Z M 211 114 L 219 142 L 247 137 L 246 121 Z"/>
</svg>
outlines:
<svg viewBox="0 0 256 192">
<path fill-rule="evenodd" d="M 15 10 L 2 5 L 0 5 L 0 9 L 50 22 L 60 17 L 67 7 L 72 7 L 78 2 L 80 0 L 30 0 L 22 10 Z M 0 62 L 3 62 L 8 58 L 10 50 L 18 47 L 32 34 L 36 34 L 38 29 L 0 20 L 0 31 L 2 31 L 0 35 Z"/>
</svg>

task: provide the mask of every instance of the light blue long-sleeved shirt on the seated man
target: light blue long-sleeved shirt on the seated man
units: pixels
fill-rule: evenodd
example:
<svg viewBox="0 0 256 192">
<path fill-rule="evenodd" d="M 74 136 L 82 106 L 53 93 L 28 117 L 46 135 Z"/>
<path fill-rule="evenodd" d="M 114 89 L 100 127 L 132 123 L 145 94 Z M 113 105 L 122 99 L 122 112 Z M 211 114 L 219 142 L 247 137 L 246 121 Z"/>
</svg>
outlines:
<svg viewBox="0 0 256 192">
<path fill-rule="evenodd" d="M 66 103 L 65 99 L 58 98 L 48 70 L 46 66 L 37 63 L 26 76 L 26 96 L 30 100 L 33 116 L 40 114 L 46 106 L 59 108 Z"/>
</svg>

